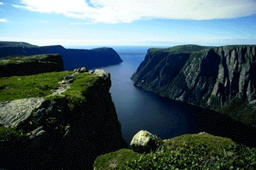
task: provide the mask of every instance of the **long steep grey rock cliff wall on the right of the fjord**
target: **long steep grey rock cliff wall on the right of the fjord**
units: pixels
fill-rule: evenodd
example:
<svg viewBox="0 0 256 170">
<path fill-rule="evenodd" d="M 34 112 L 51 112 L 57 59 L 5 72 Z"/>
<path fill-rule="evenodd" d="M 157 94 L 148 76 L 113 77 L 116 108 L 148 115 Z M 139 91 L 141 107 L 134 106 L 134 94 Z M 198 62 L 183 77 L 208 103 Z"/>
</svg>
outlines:
<svg viewBox="0 0 256 170">
<path fill-rule="evenodd" d="M 152 48 L 131 79 L 161 96 L 256 125 L 255 59 L 253 45 Z"/>
</svg>

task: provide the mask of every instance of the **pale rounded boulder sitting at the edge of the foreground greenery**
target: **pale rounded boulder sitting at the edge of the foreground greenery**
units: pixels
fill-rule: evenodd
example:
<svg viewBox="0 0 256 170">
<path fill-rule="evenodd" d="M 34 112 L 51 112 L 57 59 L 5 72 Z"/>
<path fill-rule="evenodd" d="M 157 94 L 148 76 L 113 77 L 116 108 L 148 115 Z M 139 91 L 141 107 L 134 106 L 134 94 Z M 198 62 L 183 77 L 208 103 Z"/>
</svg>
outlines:
<svg viewBox="0 0 256 170">
<path fill-rule="evenodd" d="M 148 153 L 156 150 L 157 136 L 146 130 L 136 133 L 131 139 L 131 149 L 138 153 Z"/>
</svg>

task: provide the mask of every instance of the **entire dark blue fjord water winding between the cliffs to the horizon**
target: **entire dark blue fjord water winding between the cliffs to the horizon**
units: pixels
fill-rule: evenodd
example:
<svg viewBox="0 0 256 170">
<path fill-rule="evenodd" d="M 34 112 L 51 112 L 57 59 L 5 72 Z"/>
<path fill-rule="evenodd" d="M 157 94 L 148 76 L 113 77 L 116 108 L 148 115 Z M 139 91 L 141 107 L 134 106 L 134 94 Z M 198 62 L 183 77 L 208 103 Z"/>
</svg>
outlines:
<svg viewBox="0 0 256 170">
<path fill-rule="evenodd" d="M 161 139 L 171 139 L 185 133 L 207 132 L 256 146 L 254 127 L 214 111 L 166 99 L 133 86 L 130 77 L 143 61 L 148 47 L 114 49 L 124 61 L 103 69 L 111 74 L 110 93 L 122 125 L 123 137 L 128 144 L 135 133 L 144 129 Z"/>
</svg>

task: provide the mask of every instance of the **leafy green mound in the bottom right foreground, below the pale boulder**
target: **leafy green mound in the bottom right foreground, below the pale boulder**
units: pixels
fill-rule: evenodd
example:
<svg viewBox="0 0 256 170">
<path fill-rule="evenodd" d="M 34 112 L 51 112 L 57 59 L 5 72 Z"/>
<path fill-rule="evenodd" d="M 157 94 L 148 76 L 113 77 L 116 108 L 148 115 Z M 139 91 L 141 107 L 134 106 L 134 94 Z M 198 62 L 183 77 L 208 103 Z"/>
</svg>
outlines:
<svg viewBox="0 0 256 170">
<path fill-rule="evenodd" d="M 255 169 L 256 149 L 209 134 L 185 134 L 138 154 L 118 150 L 98 156 L 96 169 Z"/>
</svg>

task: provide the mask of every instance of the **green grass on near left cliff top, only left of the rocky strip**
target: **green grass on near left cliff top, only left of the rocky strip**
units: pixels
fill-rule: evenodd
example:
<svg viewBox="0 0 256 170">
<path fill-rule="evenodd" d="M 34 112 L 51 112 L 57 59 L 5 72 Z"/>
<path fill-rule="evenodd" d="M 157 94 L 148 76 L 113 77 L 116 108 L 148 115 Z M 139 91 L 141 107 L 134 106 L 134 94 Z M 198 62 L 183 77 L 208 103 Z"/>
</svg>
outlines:
<svg viewBox="0 0 256 170">
<path fill-rule="evenodd" d="M 44 97 L 52 94 L 67 71 L 50 72 L 24 77 L 0 77 L 0 101 Z"/>
</svg>

